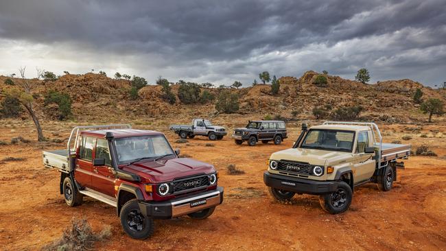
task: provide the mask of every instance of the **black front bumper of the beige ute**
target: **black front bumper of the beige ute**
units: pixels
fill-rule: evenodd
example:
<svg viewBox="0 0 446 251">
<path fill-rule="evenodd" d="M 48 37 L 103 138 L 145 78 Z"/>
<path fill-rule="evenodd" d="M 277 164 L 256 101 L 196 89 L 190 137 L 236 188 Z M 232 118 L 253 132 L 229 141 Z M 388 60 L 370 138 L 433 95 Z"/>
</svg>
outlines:
<svg viewBox="0 0 446 251">
<path fill-rule="evenodd" d="M 268 171 L 263 173 L 263 182 L 268 187 L 283 189 L 295 193 L 323 194 L 331 193 L 338 189 L 339 182 L 307 180 L 303 178 L 294 178 L 279 174 L 270 174 Z"/>
</svg>

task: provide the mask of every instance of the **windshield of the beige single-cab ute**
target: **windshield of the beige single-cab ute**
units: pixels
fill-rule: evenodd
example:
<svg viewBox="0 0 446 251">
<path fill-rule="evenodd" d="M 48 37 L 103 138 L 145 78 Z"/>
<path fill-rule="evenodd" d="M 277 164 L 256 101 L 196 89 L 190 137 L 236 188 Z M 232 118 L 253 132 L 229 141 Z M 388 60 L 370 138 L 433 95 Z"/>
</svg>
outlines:
<svg viewBox="0 0 446 251">
<path fill-rule="evenodd" d="M 343 130 L 309 130 L 301 148 L 351 152 L 355 132 Z"/>
</svg>

